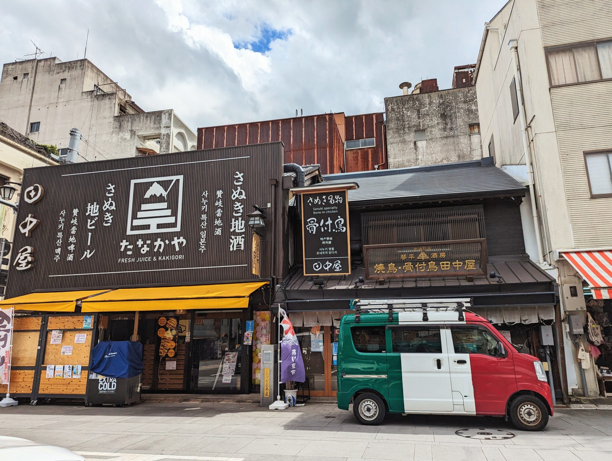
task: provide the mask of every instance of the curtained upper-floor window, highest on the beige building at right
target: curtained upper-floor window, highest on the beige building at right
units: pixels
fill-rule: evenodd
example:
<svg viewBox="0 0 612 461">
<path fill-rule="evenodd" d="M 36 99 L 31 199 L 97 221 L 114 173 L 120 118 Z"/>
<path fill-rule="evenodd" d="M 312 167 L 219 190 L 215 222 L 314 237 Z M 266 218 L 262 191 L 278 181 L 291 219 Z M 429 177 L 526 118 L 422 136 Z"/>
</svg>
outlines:
<svg viewBox="0 0 612 461">
<path fill-rule="evenodd" d="M 612 78 L 612 41 L 546 50 L 550 85 Z"/>
</svg>

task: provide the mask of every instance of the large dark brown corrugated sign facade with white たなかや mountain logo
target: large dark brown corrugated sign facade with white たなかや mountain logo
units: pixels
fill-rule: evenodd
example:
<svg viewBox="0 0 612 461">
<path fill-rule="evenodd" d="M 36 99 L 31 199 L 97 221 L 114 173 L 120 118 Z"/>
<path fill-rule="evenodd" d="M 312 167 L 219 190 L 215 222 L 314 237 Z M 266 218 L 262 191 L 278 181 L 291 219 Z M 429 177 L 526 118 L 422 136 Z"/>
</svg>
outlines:
<svg viewBox="0 0 612 461">
<path fill-rule="evenodd" d="M 26 168 L 7 296 L 257 279 L 247 214 L 282 175 L 280 143 Z"/>
</svg>

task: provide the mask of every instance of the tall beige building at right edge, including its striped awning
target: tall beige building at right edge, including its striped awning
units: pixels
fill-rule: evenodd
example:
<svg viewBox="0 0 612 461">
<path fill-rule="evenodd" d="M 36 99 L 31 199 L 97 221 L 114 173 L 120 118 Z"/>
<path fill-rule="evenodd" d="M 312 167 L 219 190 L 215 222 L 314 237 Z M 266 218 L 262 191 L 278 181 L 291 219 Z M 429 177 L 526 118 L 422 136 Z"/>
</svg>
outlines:
<svg viewBox="0 0 612 461">
<path fill-rule="evenodd" d="M 553 361 L 569 395 L 598 395 L 597 367 L 612 365 L 582 334 L 588 312 L 612 340 L 611 39 L 610 1 L 510 0 L 474 75 L 485 156 L 529 186 L 526 250 L 560 286 Z M 580 343 L 592 353 L 579 361 Z"/>
</svg>

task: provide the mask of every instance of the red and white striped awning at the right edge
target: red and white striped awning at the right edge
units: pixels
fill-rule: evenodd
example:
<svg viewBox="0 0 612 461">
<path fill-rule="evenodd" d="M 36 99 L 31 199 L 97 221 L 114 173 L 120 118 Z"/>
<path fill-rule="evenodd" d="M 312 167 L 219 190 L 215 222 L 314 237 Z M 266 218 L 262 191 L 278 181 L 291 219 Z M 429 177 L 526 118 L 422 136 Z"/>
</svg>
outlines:
<svg viewBox="0 0 612 461">
<path fill-rule="evenodd" d="M 594 250 L 561 254 L 589 284 L 593 298 L 612 299 L 612 251 Z"/>
</svg>

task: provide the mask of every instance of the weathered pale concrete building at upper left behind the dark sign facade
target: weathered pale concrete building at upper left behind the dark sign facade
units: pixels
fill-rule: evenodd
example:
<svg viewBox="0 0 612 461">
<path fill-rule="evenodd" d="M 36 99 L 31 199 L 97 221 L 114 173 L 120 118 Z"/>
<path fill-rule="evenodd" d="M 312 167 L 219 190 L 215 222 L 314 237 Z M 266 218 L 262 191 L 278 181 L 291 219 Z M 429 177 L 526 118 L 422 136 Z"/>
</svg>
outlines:
<svg viewBox="0 0 612 461">
<path fill-rule="evenodd" d="M 0 119 L 64 156 L 81 130 L 78 160 L 195 149 L 196 135 L 173 110 L 145 112 L 88 59 L 9 62 L 0 78 Z"/>
</svg>

